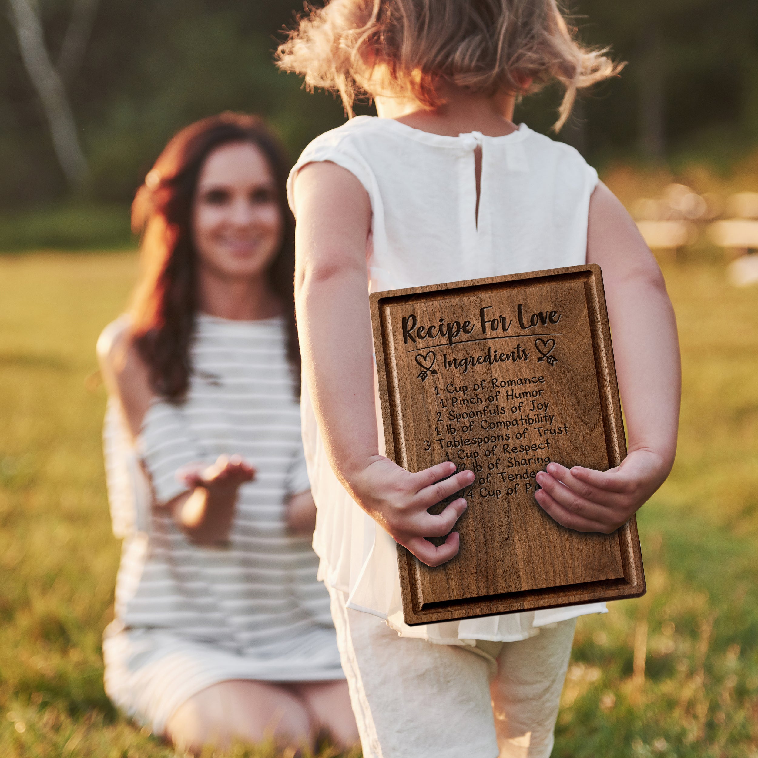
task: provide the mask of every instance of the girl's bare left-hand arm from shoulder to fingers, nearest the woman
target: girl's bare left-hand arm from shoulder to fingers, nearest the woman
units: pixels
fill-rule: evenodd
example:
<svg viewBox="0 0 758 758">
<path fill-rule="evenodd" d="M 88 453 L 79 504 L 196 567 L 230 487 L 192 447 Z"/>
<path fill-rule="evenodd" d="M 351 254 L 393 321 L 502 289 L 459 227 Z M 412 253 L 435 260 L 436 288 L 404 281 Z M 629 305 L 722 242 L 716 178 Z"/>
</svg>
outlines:
<svg viewBox="0 0 758 758">
<path fill-rule="evenodd" d="M 296 177 L 296 311 L 305 376 L 330 465 L 356 503 L 428 565 L 458 553 L 459 535 L 440 547 L 465 500 L 439 515 L 427 509 L 471 484 L 471 471 L 440 463 L 411 474 L 379 455 L 366 242 L 371 203 L 336 164 L 305 166 Z M 445 481 L 440 481 L 450 477 Z"/>
</svg>

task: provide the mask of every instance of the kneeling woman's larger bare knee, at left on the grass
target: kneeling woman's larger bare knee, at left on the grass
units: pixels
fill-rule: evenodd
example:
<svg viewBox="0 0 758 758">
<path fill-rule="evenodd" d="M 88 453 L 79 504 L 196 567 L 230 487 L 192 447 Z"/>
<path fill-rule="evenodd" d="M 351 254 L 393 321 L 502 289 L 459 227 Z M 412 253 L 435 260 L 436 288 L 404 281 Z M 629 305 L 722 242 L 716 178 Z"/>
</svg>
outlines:
<svg viewBox="0 0 758 758">
<path fill-rule="evenodd" d="M 165 735 L 176 747 L 199 751 L 206 744 L 229 747 L 272 737 L 280 744 L 312 745 L 315 729 L 308 707 L 286 685 L 235 679 L 190 697 L 168 719 Z"/>
</svg>

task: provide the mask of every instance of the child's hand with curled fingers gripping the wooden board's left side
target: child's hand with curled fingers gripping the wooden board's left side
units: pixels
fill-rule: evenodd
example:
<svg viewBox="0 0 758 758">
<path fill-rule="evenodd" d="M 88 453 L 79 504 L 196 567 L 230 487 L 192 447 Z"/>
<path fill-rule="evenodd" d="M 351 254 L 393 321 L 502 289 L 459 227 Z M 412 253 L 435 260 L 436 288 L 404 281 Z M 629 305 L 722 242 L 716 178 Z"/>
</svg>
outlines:
<svg viewBox="0 0 758 758">
<path fill-rule="evenodd" d="M 359 506 L 393 540 L 408 548 L 420 561 L 438 566 L 458 553 L 459 534 L 448 533 L 467 503 L 459 497 L 439 515 L 427 510 L 474 481 L 473 471 L 459 471 L 450 476 L 455 470 L 454 463 L 439 463 L 411 474 L 384 456 L 372 456 L 371 463 L 351 478 L 350 488 Z M 447 539 L 439 547 L 424 539 L 446 534 Z"/>
</svg>

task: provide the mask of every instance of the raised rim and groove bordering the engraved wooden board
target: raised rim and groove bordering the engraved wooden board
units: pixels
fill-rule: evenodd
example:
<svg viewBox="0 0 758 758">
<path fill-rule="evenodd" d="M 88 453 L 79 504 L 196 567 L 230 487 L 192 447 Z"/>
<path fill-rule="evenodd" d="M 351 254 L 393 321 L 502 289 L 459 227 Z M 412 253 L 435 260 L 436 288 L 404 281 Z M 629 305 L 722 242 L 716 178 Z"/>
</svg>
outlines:
<svg viewBox="0 0 758 758">
<path fill-rule="evenodd" d="M 384 333 L 380 315 L 380 302 L 383 299 L 395 297 L 407 298 L 414 294 L 428 294 L 445 290 L 458 290 L 463 287 L 498 284 L 515 280 L 537 279 L 561 274 L 589 272 L 585 280 L 587 302 L 592 305 L 590 314 L 590 330 L 593 346 L 600 355 L 596 354 L 597 384 L 600 392 L 600 405 L 603 410 L 603 427 L 606 440 L 609 440 L 609 461 L 612 466 L 619 465 L 627 454 L 624 421 L 621 402 L 619 400 L 618 384 L 613 359 L 610 325 L 606 309 L 606 296 L 603 287 L 603 272 L 600 266 L 590 263 L 584 266 L 567 266 L 565 268 L 550 268 L 543 271 L 530 271 L 525 274 L 506 274 L 500 277 L 484 279 L 469 279 L 457 282 L 431 284 L 424 287 L 407 287 L 401 290 L 384 290 L 371 293 L 369 305 L 371 309 L 371 329 L 374 335 L 374 356 L 377 364 L 379 384 L 379 400 L 384 428 L 385 454 L 387 458 L 397 462 L 395 449 L 395 429 L 393 409 L 390 404 L 389 387 L 387 386 L 386 362 L 384 359 Z M 624 580 L 606 580 L 590 582 L 587 585 L 568 585 L 568 587 L 547 587 L 543 590 L 525 590 L 521 593 L 509 593 L 502 600 L 464 600 L 451 601 L 434 607 L 417 611 L 413 607 L 412 581 L 415 556 L 402 545 L 397 546 L 398 569 L 402 587 L 402 611 L 405 622 L 409 626 L 433 624 L 457 619 L 474 619 L 488 615 L 506 615 L 525 610 L 549 609 L 559 606 L 581 605 L 583 603 L 601 603 L 607 600 L 623 600 L 631 597 L 641 597 L 645 594 L 645 576 L 642 563 L 642 550 L 637 518 L 632 516 L 616 534 L 624 565 Z M 518 596 L 518 597 L 515 597 Z M 437 606 L 437 604 L 435 604 Z"/>
</svg>

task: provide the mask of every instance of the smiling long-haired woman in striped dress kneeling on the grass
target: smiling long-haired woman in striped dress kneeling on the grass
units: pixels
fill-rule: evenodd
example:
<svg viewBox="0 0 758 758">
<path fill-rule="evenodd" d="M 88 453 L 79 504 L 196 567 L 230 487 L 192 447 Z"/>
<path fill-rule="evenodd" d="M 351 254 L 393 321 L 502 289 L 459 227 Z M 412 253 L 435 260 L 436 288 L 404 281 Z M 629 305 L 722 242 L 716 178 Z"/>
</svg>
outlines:
<svg viewBox="0 0 758 758">
<path fill-rule="evenodd" d="M 105 688 L 190 749 L 357 741 L 310 545 L 288 168 L 254 117 L 177 134 L 133 205 L 133 308 L 98 343 L 124 537 Z"/>
</svg>

